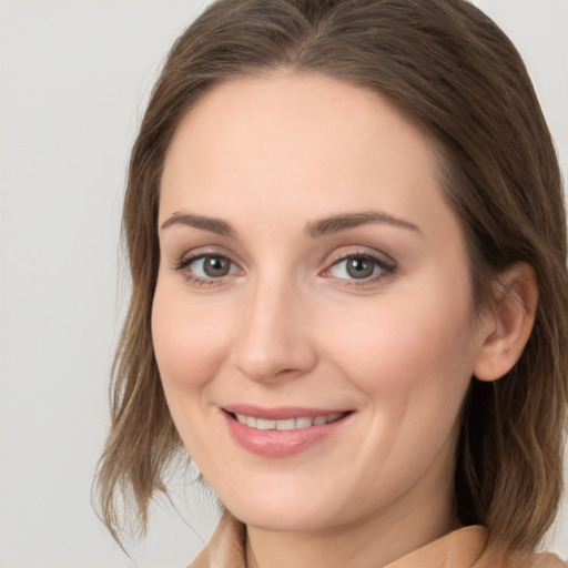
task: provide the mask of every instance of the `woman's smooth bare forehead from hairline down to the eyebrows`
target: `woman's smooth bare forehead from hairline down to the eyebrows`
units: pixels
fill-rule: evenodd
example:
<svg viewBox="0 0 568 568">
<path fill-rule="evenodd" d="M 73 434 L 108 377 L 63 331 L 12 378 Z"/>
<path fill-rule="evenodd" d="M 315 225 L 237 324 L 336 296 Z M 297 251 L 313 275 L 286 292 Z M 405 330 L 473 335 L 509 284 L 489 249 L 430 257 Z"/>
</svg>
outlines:
<svg viewBox="0 0 568 568">
<path fill-rule="evenodd" d="M 160 216 L 234 216 L 245 205 L 265 219 L 301 216 L 317 204 L 322 214 L 379 207 L 413 217 L 443 205 L 436 155 L 427 134 L 363 88 L 290 71 L 236 79 L 180 123 Z"/>
</svg>

